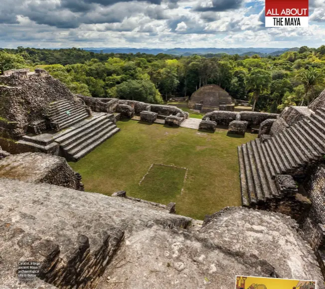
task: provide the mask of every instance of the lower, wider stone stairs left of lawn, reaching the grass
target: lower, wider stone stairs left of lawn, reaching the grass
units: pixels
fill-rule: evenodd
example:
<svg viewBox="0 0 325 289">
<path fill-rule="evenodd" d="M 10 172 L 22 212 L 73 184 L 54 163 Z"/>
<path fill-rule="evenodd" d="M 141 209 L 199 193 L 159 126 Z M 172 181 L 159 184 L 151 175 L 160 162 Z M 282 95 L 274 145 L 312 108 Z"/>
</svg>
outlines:
<svg viewBox="0 0 325 289">
<path fill-rule="evenodd" d="M 68 160 L 76 162 L 119 131 L 110 115 L 103 113 L 84 125 L 58 135 L 54 141 L 59 143 Z"/>
</svg>

